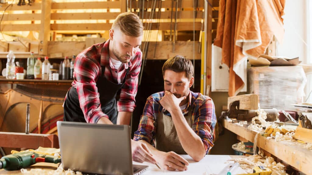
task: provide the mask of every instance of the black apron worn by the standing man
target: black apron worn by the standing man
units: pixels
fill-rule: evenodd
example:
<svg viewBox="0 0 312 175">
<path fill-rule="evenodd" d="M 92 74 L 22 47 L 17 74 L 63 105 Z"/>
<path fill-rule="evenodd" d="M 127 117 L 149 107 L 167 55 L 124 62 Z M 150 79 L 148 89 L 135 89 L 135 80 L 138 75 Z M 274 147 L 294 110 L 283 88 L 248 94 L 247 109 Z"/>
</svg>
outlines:
<svg viewBox="0 0 312 175">
<path fill-rule="evenodd" d="M 101 75 L 96 82 L 96 87 L 100 93 L 101 109 L 104 114 L 109 116 L 110 121 L 113 124 L 116 124 L 118 115 L 116 94 L 126 81 L 129 73 L 129 67 L 126 69 L 126 75 L 123 83 L 121 84 L 116 84 L 107 80 L 104 76 L 105 66 L 101 66 L 101 68 Z M 74 87 L 69 89 L 64 102 L 64 121 L 86 122 L 84 114 L 80 108 L 77 89 Z"/>
</svg>

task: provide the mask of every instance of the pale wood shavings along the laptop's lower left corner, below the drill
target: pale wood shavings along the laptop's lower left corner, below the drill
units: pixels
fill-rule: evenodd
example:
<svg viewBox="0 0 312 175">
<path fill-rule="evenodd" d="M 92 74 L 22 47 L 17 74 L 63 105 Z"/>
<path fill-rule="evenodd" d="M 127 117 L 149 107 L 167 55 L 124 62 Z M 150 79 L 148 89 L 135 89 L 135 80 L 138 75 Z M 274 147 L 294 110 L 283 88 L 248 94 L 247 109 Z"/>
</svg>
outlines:
<svg viewBox="0 0 312 175">
<path fill-rule="evenodd" d="M 27 169 L 21 169 L 22 174 L 27 175 L 82 175 L 81 172 L 76 171 L 76 173 L 71 170 L 64 170 L 62 164 L 56 170 L 44 170 L 41 168 L 32 168 L 29 171 Z"/>
</svg>

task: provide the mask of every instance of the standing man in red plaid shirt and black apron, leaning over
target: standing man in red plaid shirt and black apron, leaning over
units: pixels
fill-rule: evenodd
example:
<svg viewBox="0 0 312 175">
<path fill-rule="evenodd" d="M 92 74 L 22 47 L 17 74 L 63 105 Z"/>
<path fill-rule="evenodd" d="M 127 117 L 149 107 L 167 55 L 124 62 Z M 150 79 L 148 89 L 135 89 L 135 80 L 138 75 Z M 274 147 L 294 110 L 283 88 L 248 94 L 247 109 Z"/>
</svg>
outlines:
<svg viewBox="0 0 312 175">
<path fill-rule="evenodd" d="M 64 121 L 129 125 L 138 89 L 143 28 L 137 15 L 121 13 L 106 42 L 77 55 L 74 81 L 63 105 Z M 132 140 L 131 145 L 134 161 L 156 162 L 145 144 Z"/>
</svg>

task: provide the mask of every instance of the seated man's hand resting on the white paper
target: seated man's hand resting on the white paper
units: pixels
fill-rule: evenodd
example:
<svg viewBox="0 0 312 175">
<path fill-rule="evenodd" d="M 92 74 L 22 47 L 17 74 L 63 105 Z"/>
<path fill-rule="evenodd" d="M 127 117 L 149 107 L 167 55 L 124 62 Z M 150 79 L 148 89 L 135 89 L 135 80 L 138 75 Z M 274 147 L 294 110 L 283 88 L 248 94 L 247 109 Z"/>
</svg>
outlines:
<svg viewBox="0 0 312 175">
<path fill-rule="evenodd" d="M 173 151 L 168 153 L 159 151 L 157 160 L 162 168 L 169 171 L 185 171 L 188 169 L 188 161 Z"/>
</svg>

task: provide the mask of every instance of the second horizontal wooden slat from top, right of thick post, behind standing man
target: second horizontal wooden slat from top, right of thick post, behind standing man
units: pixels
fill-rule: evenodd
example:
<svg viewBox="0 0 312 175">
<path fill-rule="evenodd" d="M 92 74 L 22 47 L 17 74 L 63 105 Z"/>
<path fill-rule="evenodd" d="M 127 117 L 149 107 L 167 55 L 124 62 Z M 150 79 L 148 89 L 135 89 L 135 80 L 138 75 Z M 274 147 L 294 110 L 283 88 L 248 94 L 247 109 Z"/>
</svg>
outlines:
<svg viewBox="0 0 312 175">
<path fill-rule="evenodd" d="M 151 12 L 144 13 L 144 16 L 149 17 Z M 197 12 L 197 17 L 201 19 L 203 12 Z M 120 13 L 52 13 L 51 20 L 113 20 Z M 193 19 L 192 11 L 182 11 L 181 19 Z M 153 19 L 158 19 L 158 12 L 154 12 Z M 171 12 L 160 12 L 160 19 L 171 19 Z"/>
</svg>

